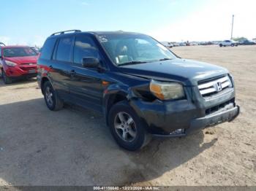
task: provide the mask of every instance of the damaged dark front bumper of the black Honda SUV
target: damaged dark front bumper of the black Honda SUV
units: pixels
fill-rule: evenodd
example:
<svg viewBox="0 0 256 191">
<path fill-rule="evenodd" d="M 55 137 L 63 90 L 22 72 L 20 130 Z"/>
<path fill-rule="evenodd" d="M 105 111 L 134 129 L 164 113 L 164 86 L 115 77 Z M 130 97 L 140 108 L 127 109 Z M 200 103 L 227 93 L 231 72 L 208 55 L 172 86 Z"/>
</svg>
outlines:
<svg viewBox="0 0 256 191">
<path fill-rule="evenodd" d="M 186 136 L 196 130 L 234 120 L 239 112 L 235 93 L 230 92 L 218 98 L 195 101 L 130 101 L 148 132 L 155 136 Z M 216 109 L 218 107 L 218 109 Z M 208 109 L 213 112 L 208 113 Z M 214 110 L 216 109 L 216 110 Z"/>
</svg>

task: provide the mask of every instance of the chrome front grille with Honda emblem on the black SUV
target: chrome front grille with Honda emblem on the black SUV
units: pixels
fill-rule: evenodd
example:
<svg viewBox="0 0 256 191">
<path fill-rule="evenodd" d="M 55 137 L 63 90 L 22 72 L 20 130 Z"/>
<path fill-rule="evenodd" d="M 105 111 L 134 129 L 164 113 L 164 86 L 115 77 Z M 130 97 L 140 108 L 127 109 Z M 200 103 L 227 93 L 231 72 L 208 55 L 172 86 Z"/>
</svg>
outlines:
<svg viewBox="0 0 256 191">
<path fill-rule="evenodd" d="M 227 75 L 217 79 L 208 79 L 198 83 L 198 89 L 203 97 L 211 97 L 232 88 L 232 82 Z"/>
</svg>

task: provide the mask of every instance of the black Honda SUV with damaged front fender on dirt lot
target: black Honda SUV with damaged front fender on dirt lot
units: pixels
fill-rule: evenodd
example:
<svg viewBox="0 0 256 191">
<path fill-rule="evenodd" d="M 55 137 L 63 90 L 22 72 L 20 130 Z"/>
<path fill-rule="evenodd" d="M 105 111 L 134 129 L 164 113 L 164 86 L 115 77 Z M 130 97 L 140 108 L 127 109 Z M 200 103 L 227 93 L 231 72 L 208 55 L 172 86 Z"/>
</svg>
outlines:
<svg viewBox="0 0 256 191">
<path fill-rule="evenodd" d="M 102 112 L 117 143 L 186 136 L 239 114 L 227 69 L 179 58 L 150 36 L 124 31 L 52 34 L 38 60 L 50 110 L 64 102 Z"/>
</svg>

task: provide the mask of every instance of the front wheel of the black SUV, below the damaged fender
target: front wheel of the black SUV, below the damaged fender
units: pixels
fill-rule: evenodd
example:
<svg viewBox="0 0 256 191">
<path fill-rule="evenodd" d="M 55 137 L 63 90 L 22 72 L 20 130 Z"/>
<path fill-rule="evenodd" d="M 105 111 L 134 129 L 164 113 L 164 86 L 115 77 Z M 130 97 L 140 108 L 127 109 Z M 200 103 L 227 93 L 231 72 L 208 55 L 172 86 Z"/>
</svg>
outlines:
<svg viewBox="0 0 256 191">
<path fill-rule="evenodd" d="M 124 123 L 121 122 L 121 118 Z M 108 114 L 108 122 L 113 138 L 124 149 L 135 151 L 151 141 L 151 135 L 143 128 L 143 122 L 127 101 L 120 101 L 112 106 Z"/>
</svg>

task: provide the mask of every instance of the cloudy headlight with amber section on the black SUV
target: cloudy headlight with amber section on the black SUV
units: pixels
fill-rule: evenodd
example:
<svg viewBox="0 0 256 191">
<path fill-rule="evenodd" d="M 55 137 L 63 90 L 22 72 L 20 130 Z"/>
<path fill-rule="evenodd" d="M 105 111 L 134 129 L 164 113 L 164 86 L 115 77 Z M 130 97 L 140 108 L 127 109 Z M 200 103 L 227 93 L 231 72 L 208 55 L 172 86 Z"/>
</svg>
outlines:
<svg viewBox="0 0 256 191">
<path fill-rule="evenodd" d="M 159 82 L 154 79 L 150 82 L 150 90 L 160 100 L 184 98 L 183 86 L 177 82 Z"/>
</svg>

